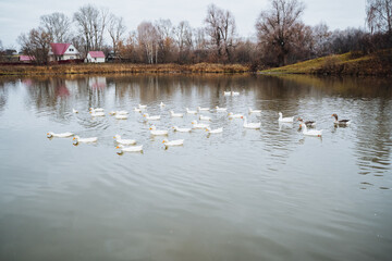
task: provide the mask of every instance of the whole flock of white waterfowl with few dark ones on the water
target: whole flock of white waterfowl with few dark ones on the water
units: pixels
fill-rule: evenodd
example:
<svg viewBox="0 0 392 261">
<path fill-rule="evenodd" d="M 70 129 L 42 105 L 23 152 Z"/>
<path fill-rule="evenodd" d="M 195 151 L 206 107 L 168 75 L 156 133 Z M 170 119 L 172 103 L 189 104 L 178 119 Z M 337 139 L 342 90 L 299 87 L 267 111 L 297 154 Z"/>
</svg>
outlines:
<svg viewBox="0 0 392 261">
<path fill-rule="evenodd" d="M 235 91 L 224 91 L 224 96 L 237 96 L 240 95 L 238 92 Z M 166 104 L 163 102 L 160 102 L 159 107 L 161 109 L 163 109 L 166 107 Z M 143 112 L 147 109 L 146 104 L 138 104 L 137 108 L 134 108 L 135 112 Z M 216 107 L 215 108 L 216 112 L 226 112 L 226 108 L 220 108 L 220 107 Z M 188 108 L 185 108 L 186 113 L 187 114 L 198 114 L 200 112 L 206 112 L 206 111 L 210 111 L 209 108 L 201 108 L 198 107 L 197 110 L 192 111 Z M 73 113 L 78 113 L 77 110 L 72 109 Z M 96 116 L 105 116 L 105 109 L 102 108 L 89 108 L 89 113 L 91 114 L 93 117 Z M 253 110 L 252 108 L 248 108 L 248 113 L 249 114 L 260 114 L 261 110 Z M 293 123 L 294 122 L 294 116 L 290 116 L 290 117 L 283 117 L 283 114 L 281 112 L 278 113 L 279 114 L 279 119 L 278 122 L 279 123 Z M 114 116 L 118 120 L 126 120 L 128 112 L 127 111 L 111 111 L 109 112 L 109 115 Z M 172 117 L 183 117 L 184 113 L 176 113 L 174 111 L 170 111 L 170 115 Z M 143 114 L 143 116 L 147 120 L 147 121 L 159 121 L 161 119 L 160 115 L 149 115 L 147 112 L 145 112 Z M 253 128 L 253 129 L 259 129 L 261 128 L 261 122 L 252 122 L 248 123 L 247 122 L 247 117 L 241 113 L 228 113 L 228 116 L 230 120 L 232 119 L 243 119 L 244 123 L 243 123 L 243 127 L 244 128 Z M 350 124 L 350 120 L 339 120 L 336 114 L 332 114 L 332 116 L 335 119 L 334 124 L 335 125 L 348 125 Z M 207 121 L 207 122 L 211 122 L 211 117 L 210 116 L 206 116 L 200 114 L 198 117 L 199 121 Z M 316 127 L 316 122 L 315 121 L 304 121 L 302 117 L 298 117 L 297 121 L 299 122 L 299 128 L 303 129 L 303 135 L 306 136 L 315 136 L 315 137 L 321 137 L 322 136 L 322 129 L 321 130 L 317 130 L 317 129 L 308 129 L 308 128 L 314 128 Z M 196 120 L 194 120 L 192 122 L 193 127 L 188 128 L 188 127 L 179 127 L 179 126 L 173 126 L 173 130 L 174 132 L 179 132 L 179 133 L 189 133 L 192 132 L 192 129 L 205 129 L 208 134 L 221 134 L 223 133 L 223 127 L 218 127 L 216 129 L 211 129 L 209 124 L 207 123 L 199 123 Z M 169 135 L 169 130 L 167 129 L 157 129 L 157 127 L 155 125 L 150 125 L 149 127 L 150 134 L 154 136 L 168 136 Z M 69 138 L 69 137 L 73 137 L 73 141 L 74 145 L 77 145 L 79 142 L 82 144 L 93 144 L 93 142 L 97 142 L 98 141 L 98 137 L 88 137 L 88 138 L 81 138 L 79 136 L 73 134 L 73 133 L 52 133 L 52 132 L 48 132 L 47 133 L 47 137 L 48 138 L 52 138 L 52 137 L 58 137 L 58 138 Z M 122 153 L 122 152 L 139 152 L 143 151 L 143 145 L 139 146 L 135 146 L 136 145 L 136 140 L 135 139 L 123 139 L 120 135 L 115 135 L 114 137 L 115 142 L 118 144 L 118 146 L 115 147 L 117 149 L 120 149 L 120 152 L 118 153 Z M 184 139 L 176 139 L 176 140 L 168 140 L 168 139 L 163 139 L 162 141 L 166 147 L 170 147 L 170 146 L 182 146 L 184 144 Z"/>
</svg>

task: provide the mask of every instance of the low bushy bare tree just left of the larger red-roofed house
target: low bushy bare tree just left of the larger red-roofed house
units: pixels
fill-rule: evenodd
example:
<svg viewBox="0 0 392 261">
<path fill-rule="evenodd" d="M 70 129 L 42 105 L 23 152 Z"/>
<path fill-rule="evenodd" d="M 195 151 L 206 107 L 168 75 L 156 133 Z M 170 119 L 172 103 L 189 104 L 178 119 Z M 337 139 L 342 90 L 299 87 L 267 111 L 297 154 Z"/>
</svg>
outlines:
<svg viewBox="0 0 392 261">
<path fill-rule="evenodd" d="M 42 27 L 32 29 L 27 35 L 22 34 L 19 36 L 17 41 L 22 47 L 22 51 L 33 58 L 36 63 L 48 63 L 48 52 L 52 38 Z"/>
</svg>

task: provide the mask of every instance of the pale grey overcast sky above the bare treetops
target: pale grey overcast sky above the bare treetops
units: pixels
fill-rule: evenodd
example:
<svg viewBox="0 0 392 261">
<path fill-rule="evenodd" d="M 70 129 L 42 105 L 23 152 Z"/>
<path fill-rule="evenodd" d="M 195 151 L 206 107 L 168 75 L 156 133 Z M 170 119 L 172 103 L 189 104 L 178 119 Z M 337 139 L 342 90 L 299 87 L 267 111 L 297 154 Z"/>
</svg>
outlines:
<svg viewBox="0 0 392 261">
<path fill-rule="evenodd" d="M 365 26 L 366 0 L 303 0 L 306 9 L 303 21 L 316 25 L 321 21 L 330 29 Z M 173 24 L 186 20 L 193 27 L 203 26 L 210 3 L 230 10 L 235 17 L 240 36 L 255 34 L 255 21 L 261 10 L 269 8 L 269 0 L 0 0 L 0 40 L 3 47 L 19 48 L 16 38 L 37 27 L 39 16 L 62 12 L 72 17 L 84 4 L 106 7 L 123 16 L 127 30 L 136 29 L 142 21 L 170 18 Z"/>
</svg>

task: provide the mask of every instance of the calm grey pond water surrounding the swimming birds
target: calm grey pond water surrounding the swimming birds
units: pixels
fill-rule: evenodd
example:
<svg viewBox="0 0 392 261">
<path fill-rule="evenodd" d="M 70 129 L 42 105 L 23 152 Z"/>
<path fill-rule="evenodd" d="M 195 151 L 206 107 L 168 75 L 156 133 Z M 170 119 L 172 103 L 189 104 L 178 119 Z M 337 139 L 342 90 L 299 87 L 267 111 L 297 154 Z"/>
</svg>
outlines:
<svg viewBox="0 0 392 261">
<path fill-rule="evenodd" d="M 198 105 L 244 113 L 261 129 L 206 112 L 222 134 L 170 130 L 185 142 L 166 150 L 133 112 L 139 103 L 161 115 L 159 129 L 191 127 L 197 116 L 169 110 Z M 130 115 L 91 119 L 90 107 Z M 316 120 L 322 139 L 280 125 L 278 112 Z M 334 127 L 332 113 L 351 126 Z M 391 259 L 391 79 L 0 78 L 0 260 Z M 115 134 L 144 152 L 118 154 Z"/>
</svg>

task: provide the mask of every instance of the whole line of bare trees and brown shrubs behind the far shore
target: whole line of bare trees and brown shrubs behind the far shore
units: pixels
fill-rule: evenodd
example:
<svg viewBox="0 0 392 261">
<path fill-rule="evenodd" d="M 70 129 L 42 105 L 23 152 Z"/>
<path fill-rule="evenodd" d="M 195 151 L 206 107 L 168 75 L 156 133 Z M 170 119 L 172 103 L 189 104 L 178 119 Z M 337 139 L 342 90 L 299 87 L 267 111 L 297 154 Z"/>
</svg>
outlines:
<svg viewBox="0 0 392 261">
<path fill-rule="evenodd" d="M 215 4 L 207 8 L 203 27 L 160 18 L 144 21 L 131 32 L 123 17 L 87 4 L 72 17 L 58 12 L 42 15 L 39 26 L 17 41 L 37 63 L 47 63 L 50 42 L 72 42 L 82 57 L 102 50 L 122 62 L 241 63 L 256 70 L 333 53 L 392 48 L 392 0 L 367 0 L 365 8 L 367 29 L 331 32 L 326 23 L 309 26 L 302 21 L 302 1 L 270 0 L 255 21 L 256 37 L 244 38 L 237 34 L 234 15 Z"/>
</svg>

